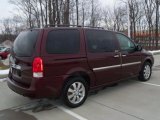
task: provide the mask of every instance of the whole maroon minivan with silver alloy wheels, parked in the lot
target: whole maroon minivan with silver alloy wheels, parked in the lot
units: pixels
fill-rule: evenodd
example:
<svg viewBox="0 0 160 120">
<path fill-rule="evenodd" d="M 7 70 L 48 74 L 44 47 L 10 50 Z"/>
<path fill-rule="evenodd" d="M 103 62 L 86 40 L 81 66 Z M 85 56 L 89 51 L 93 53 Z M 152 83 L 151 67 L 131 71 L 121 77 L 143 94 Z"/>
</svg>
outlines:
<svg viewBox="0 0 160 120">
<path fill-rule="evenodd" d="M 154 59 L 122 33 L 45 27 L 19 34 L 10 63 L 8 86 L 16 93 L 62 97 L 66 105 L 78 107 L 88 91 L 136 76 L 149 80 Z"/>
</svg>

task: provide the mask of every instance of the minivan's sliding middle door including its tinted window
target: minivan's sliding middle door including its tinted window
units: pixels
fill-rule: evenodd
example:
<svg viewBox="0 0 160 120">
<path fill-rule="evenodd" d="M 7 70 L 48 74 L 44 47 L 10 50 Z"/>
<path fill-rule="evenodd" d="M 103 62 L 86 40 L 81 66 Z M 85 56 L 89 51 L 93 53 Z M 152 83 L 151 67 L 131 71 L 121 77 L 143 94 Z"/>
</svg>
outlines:
<svg viewBox="0 0 160 120">
<path fill-rule="evenodd" d="M 120 79 L 121 60 L 114 34 L 105 30 L 86 30 L 85 33 L 88 63 L 96 76 L 96 85 Z"/>
</svg>

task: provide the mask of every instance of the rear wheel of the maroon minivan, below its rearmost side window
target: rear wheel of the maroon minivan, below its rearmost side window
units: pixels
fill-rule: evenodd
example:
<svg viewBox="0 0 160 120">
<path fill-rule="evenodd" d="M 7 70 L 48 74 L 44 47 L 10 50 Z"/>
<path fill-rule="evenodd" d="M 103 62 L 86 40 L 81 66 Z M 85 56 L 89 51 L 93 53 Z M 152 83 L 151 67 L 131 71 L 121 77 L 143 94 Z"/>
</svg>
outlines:
<svg viewBox="0 0 160 120">
<path fill-rule="evenodd" d="M 70 78 L 64 86 L 63 102 L 65 105 L 75 108 L 82 105 L 88 95 L 88 84 L 81 77 Z"/>
</svg>

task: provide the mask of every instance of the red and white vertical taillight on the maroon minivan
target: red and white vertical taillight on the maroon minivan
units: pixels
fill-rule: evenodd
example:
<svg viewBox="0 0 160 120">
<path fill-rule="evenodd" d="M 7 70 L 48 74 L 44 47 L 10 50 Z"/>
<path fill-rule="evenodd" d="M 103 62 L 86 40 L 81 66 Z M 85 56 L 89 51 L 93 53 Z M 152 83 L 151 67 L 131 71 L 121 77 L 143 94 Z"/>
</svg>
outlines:
<svg viewBox="0 0 160 120">
<path fill-rule="evenodd" d="M 40 57 L 34 58 L 33 61 L 33 77 L 43 77 L 43 60 Z"/>
</svg>

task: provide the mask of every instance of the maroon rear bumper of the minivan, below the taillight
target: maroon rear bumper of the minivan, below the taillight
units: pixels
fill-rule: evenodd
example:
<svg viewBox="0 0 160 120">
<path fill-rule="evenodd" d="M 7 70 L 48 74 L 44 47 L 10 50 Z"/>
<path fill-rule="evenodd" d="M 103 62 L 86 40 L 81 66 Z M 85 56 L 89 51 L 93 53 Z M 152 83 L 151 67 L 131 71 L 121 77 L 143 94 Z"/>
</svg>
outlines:
<svg viewBox="0 0 160 120">
<path fill-rule="evenodd" d="M 41 81 L 41 82 L 38 82 Z M 57 98 L 59 97 L 58 91 L 54 88 L 47 86 L 42 80 L 35 80 L 29 88 L 18 85 L 13 79 L 9 78 L 7 81 L 8 87 L 14 92 L 31 98 Z"/>
</svg>

